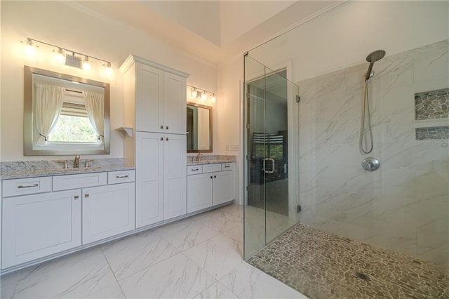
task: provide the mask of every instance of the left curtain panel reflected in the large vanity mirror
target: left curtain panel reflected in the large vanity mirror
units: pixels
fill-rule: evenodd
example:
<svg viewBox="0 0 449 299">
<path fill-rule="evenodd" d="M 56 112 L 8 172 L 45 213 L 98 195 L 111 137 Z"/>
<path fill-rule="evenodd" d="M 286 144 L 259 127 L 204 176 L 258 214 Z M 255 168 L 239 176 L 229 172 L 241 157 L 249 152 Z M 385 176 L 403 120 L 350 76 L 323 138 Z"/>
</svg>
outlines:
<svg viewBox="0 0 449 299">
<path fill-rule="evenodd" d="M 51 133 L 58 122 L 64 93 L 65 88 L 60 86 L 34 84 L 34 117 L 36 119 L 36 130 L 39 133 L 36 145 L 46 145 L 48 134 Z"/>
</svg>

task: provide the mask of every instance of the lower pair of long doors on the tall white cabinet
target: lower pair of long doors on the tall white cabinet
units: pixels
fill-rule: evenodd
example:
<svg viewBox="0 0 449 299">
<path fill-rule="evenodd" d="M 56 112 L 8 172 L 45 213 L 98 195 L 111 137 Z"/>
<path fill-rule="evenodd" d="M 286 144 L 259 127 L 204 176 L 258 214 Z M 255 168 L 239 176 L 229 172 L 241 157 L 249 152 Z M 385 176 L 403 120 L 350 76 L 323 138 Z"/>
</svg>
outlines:
<svg viewBox="0 0 449 299">
<path fill-rule="evenodd" d="M 187 213 L 185 135 L 136 133 L 136 227 Z"/>
</svg>

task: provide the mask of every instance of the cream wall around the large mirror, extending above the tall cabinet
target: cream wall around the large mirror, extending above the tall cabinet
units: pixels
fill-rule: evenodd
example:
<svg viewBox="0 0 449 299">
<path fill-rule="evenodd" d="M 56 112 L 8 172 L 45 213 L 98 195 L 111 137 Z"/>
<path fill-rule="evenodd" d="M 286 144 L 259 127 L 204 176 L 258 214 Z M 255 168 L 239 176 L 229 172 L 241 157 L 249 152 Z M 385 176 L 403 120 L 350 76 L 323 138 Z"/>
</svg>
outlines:
<svg viewBox="0 0 449 299">
<path fill-rule="evenodd" d="M 111 84 L 111 154 L 97 155 L 95 159 L 123 157 L 123 141 L 114 128 L 123 125 L 123 75 L 119 67 L 130 53 L 191 74 L 187 84 L 212 92 L 217 90 L 217 67 L 212 63 L 103 15 L 76 7 L 56 1 L 1 1 L 1 161 L 60 159 L 22 154 L 23 65 Z M 27 37 L 110 60 L 115 68 L 114 77 L 107 79 L 94 67 L 86 74 L 49 62 L 44 47 L 35 58 L 29 58 L 20 44 Z"/>
</svg>

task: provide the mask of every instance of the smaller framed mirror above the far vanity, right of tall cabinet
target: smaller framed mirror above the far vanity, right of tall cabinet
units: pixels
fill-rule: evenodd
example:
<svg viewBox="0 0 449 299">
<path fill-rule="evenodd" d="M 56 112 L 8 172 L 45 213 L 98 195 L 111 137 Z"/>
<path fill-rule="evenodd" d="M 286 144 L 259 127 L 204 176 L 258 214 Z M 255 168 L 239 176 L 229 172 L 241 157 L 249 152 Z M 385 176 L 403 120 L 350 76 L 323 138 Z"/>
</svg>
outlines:
<svg viewBox="0 0 449 299">
<path fill-rule="evenodd" d="M 187 102 L 187 152 L 212 152 L 212 107 Z"/>
</svg>

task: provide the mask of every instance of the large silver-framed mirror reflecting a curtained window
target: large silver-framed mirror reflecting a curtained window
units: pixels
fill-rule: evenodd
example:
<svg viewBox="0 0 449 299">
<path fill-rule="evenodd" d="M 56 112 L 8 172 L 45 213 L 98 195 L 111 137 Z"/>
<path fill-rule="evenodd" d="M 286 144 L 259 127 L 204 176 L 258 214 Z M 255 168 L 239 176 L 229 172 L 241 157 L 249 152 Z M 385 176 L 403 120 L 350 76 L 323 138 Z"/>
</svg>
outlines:
<svg viewBox="0 0 449 299">
<path fill-rule="evenodd" d="M 109 84 L 25 66 L 25 156 L 109 154 Z"/>
</svg>

